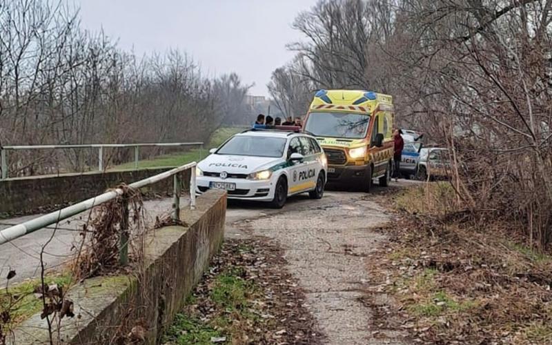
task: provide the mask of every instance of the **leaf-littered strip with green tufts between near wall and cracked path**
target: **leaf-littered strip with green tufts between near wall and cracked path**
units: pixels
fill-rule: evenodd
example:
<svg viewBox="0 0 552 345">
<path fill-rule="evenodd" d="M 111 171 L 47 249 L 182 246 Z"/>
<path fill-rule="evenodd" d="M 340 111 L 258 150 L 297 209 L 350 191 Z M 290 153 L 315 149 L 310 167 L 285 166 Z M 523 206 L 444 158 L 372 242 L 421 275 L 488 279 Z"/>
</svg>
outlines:
<svg viewBox="0 0 552 345">
<path fill-rule="evenodd" d="M 282 249 L 264 237 L 225 239 L 208 272 L 167 327 L 170 344 L 320 344 L 324 335 L 286 272 Z"/>
</svg>

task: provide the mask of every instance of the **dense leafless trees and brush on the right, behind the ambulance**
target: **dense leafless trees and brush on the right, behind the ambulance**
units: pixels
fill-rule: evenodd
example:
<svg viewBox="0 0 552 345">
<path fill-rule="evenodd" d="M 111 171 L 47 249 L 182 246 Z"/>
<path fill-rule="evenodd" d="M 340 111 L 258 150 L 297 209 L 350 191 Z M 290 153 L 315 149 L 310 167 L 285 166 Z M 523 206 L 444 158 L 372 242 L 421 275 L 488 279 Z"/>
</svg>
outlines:
<svg viewBox="0 0 552 345">
<path fill-rule="evenodd" d="M 458 206 L 516 221 L 544 247 L 551 8 L 551 0 L 322 0 L 297 17 L 305 41 L 290 44 L 294 67 L 275 70 L 270 87 L 284 110 L 298 93 L 293 77 L 313 89 L 390 93 L 400 124 L 450 148 Z"/>
</svg>

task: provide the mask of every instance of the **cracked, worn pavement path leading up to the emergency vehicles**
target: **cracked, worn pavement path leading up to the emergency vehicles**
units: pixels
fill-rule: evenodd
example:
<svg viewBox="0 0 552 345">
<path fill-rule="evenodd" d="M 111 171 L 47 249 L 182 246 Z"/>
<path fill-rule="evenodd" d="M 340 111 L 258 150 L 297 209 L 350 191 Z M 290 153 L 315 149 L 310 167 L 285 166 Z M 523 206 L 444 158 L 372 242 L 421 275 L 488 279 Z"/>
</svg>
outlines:
<svg viewBox="0 0 552 345">
<path fill-rule="evenodd" d="M 366 255 L 385 242 L 371 228 L 391 220 L 378 197 L 328 192 L 322 200 L 297 199 L 278 212 L 250 210 L 248 219 L 233 222 L 230 210 L 227 237 L 263 236 L 282 246 L 286 268 L 328 344 L 404 344 L 402 334 L 371 329 L 371 311 L 361 301 L 370 282 Z"/>
</svg>

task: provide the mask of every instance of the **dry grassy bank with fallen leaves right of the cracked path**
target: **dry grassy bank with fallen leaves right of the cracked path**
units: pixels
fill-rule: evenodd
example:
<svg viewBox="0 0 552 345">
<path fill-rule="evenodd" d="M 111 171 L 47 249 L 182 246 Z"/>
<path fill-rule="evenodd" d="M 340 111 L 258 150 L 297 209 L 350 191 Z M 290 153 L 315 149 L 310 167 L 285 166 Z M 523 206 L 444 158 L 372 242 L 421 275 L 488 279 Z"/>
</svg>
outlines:
<svg viewBox="0 0 552 345">
<path fill-rule="evenodd" d="M 391 249 L 371 270 L 397 302 L 395 326 L 433 344 L 549 344 L 552 257 L 518 242 L 510 224 L 456 210 L 447 190 L 405 190 L 400 220 L 382 229 Z"/>
</svg>

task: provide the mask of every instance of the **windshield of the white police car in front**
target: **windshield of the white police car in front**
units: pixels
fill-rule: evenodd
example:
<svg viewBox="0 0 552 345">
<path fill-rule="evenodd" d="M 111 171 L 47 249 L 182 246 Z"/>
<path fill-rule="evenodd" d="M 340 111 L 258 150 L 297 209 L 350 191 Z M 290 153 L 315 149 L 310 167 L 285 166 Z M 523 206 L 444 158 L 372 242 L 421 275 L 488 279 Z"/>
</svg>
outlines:
<svg viewBox="0 0 552 345">
<path fill-rule="evenodd" d="M 217 155 L 237 155 L 254 157 L 282 157 L 286 147 L 285 138 L 237 135 L 226 141 L 217 150 Z"/>
</svg>

